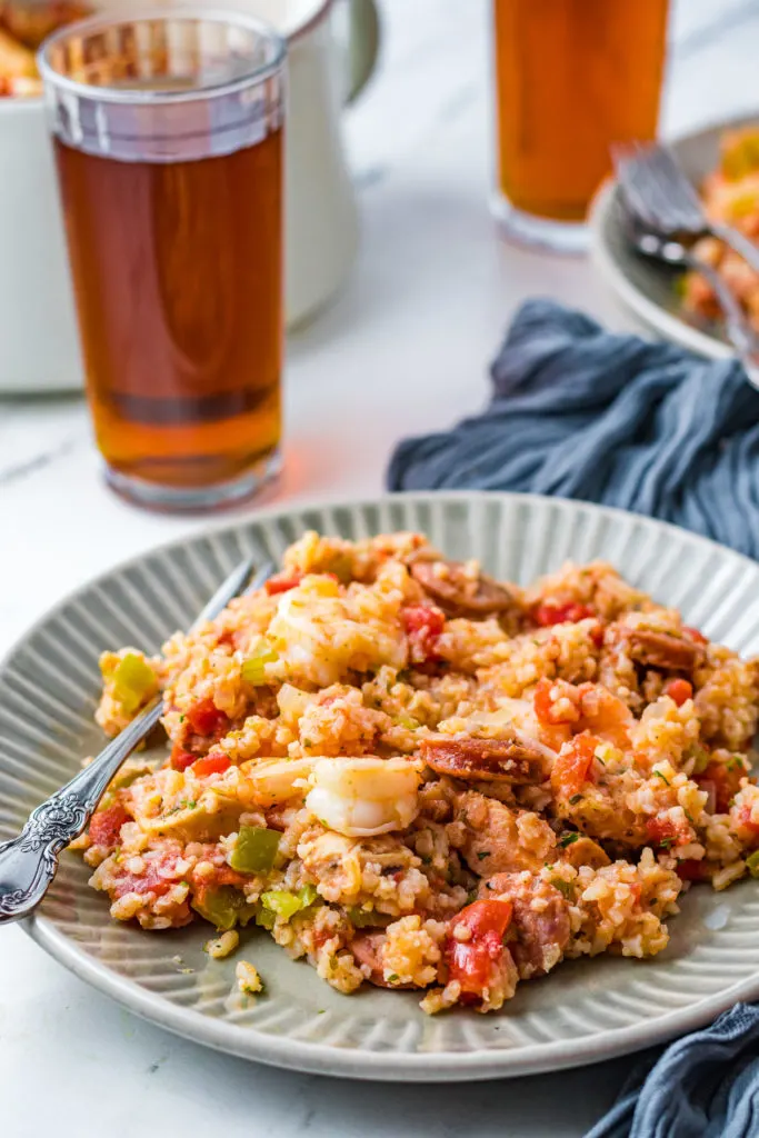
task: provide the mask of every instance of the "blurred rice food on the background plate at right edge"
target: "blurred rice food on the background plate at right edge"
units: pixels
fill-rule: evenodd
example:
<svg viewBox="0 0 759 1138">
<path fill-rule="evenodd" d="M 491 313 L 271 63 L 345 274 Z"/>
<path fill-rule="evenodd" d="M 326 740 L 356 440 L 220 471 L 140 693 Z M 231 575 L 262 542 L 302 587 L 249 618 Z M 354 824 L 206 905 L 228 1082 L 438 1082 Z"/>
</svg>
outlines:
<svg viewBox="0 0 759 1138">
<path fill-rule="evenodd" d="M 756 241 L 759 238 L 759 126 L 727 132 L 720 145 L 720 160 L 701 187 L 707 215 L 724 222 Z M 694 254 L 717 269 L 759 331 L 759 275 L 749 264 L 715 237 L 696 242 Z M 685 311 L 702 320 L 716 320 L 721 313 L 715 291 L 700 273 L 683 278 Z"/>
</svg>

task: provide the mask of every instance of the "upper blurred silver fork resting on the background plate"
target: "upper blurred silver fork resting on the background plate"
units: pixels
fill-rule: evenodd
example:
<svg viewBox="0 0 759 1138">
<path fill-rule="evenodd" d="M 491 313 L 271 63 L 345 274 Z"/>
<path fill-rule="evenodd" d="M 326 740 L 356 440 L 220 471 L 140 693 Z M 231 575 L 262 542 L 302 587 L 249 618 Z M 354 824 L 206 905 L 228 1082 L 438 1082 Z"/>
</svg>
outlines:
<svg viewBox="0 0 759 1138">
<path fill-rule="evenodd" d="M 732 225 L 707 217 L 699 196 L 673 151 L 659 142 L 612 147 L 622 195 L 647 229 L 678 237 L 719 238 L 759 273 L 759 247 Z"/>
</svg>

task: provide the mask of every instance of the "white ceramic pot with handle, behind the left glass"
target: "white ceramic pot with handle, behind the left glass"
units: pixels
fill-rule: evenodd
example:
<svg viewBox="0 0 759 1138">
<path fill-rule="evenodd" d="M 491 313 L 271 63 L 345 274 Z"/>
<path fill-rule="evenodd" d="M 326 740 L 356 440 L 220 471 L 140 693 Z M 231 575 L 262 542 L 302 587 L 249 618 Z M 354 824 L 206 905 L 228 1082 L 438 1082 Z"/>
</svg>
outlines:
<svg viewBox="0 0 759 1138">
<path fill-rule="evenodd" d="M 124 6 L 94 0 L 92 7 Z M 131 0 L 135 8 L 204 7 L 201 0 Z M 353 263 L 357 205 L 345 163 L 340 112 L 372 74 L 374 0 L 223 0 L 288 40 L 286 314 L 314 315 Z M 343 11 L 340 10 L 343 9 Z M 336 17 L 348 17 L 340 38 Z M 0 99 L 0 393 L 83 386 L 52 149 L 41 99 Z"/>
</svg>

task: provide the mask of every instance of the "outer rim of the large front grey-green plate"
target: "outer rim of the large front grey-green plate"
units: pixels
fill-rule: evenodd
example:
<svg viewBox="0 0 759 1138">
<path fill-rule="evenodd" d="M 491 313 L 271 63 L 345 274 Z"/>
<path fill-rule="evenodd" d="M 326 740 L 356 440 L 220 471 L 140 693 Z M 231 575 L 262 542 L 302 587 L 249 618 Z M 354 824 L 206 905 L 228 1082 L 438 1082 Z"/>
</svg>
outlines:
<svg viewBox="0 0 759 1138">
<path fill-rule="evenodd" d="M 89 578 L 82 585 L 68 591 L 16 638 L 2 655 L 2 659 L 0 659 L 0 682 L 6 670 L 11 666 L 16 653 L 24 648 L 28 637 L 34 635 L 38 629 L 42 628 L 66 605 L 88 592 L 91 587 L 114 575 L 123 572 L 130 566 L 146 558 L 184 546 L 191 542 L 203 541 L 215 534 L 239 531 L 248 526 L 256 525 L 258 521 L 279 517 L 291 517 L 292 514 L 304 513 L 310 510 L 376 508 L 398 500 L 419 503 L 463 501 L 475 504 L 496 498 L 526 504 L 552 502 L 559 504 L 562 510 L 587 510 L 596 517 L 633 518 L 650 531 L 676 533 L 680 541 L 685 539 L 696 547 L 717 550 L 723 556 L 727 555 L 737 564 L 750 568 L 754 574 L 757 572 L 757 562 L 751 558 L 721 545 L 711 538 L 646 514 L 633 513 L 628 510 L 600 505 L 584 500 L 488 490 L 428 490 L 377 495 L 363 494 L 353 497 L 330 495 L 329 497 L 314 500 L 304 498 L 290 504 L 273 504 L 236 519 L 225 518 L 214 520 L 211 525 L 199 530 L 152 545 L 134 556 L 115 562 L 102 572 Z M 117 1004 L 126 1007 L 134 1014 L 174 1034 L 220 1052 L 277 1067 L 358 1080 L 403 1080 L 409 1082 L 478 1081 L 585 1066 L 673 1039 L 675 1036 L 702 1026 L 709 1020 L 731 1007 L 736 1000 L 753 999 L 759 996 L 758 967 L 757 974 L 753 976 L 748 976 L 720 989 L 718 992 L 695 1004 L 686 1005 L 683 1008 L 675 1008 L 654 1021 L 645 1020 L 627 1026 L 608 1028 L 581 1040 L 560 1039 L 552 1042 L 530 1044 L 519 1047 L 518 1052 L 508 1047 L 504 1047 L 502 1050 L 479 1048 L 470 1052 L 451 1050 L 435 1054 L 362 1052 L 349 1047 L 340 1048 L 304 1039 L 272 1036 L 258 1031 L 255 1026 L 240 1026 L 223 1020 L 213 1020 L 199 1015 L 192 1008 L 175 1005 L 171 1000 L 165 999 L 160 993 L 152 992 L 150 989 L 142 988 L 135 981 L 119 975 L 107 964 L 81 949 L 76 941 L 68 938 L 47 917 L 32 915 L 19 924 L 22 930 L 32 940 L 69 972 L 79 976 L 79 979 L 89 983 L 97 991 L 109 996 Z"/>
</svg>

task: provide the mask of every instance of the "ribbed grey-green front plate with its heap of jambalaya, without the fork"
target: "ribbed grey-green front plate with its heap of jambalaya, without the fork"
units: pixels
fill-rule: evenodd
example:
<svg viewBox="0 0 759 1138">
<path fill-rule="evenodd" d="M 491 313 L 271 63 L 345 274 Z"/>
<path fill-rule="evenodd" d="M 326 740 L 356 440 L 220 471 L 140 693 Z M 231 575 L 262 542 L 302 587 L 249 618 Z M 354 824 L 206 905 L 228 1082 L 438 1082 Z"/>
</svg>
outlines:
<svg viewBox="0 0 759 1138">
<path fill-rule="evenodd" d="M 159 655 L 248 554 L 284 568 Z M 758 596 L 702 538 L 519 495 L 140 556 L 0 669 L 0 839 L 156 684 L 171 736 L 25 927 L 157 1024 L 320 1073 L 515 1075 L 703 1024 L 759 995 Z"/>
</svg>

